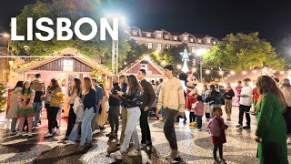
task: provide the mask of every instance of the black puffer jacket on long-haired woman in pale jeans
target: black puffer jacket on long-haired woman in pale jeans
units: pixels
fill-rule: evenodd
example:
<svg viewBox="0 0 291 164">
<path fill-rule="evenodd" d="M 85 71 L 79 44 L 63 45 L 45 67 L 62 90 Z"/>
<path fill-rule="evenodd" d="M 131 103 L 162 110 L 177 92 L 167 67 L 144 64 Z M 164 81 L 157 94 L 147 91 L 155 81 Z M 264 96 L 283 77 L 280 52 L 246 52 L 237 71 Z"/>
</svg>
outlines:
<svg viewBox="0 0 291 164">
<path fill-rule="evenodd" d="M 125 108 L 141 107 L 143 105 L 142 94 L 135 88 L 131 95 L 124 94 L 122 97 L 125 102 Z"/>
</svg>

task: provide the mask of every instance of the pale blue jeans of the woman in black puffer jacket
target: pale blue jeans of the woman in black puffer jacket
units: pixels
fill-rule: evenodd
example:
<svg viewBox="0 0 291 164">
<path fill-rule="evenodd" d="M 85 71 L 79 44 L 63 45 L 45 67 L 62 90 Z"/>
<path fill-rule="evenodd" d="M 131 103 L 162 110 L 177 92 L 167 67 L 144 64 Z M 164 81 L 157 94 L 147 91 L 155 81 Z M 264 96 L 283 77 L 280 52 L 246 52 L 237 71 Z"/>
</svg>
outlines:
<svg viewBox="0 0 291 164">
<path fill-rule="evenodd" d="M 136 131 L 136 124 L 141 116 L 140 108 L 127 108 L 127 122 L 125 128 L 125 138 L 120 147 L 120 151 L 125 152 L 128 149 L 130 139 L 134 139 L 135 149 L 139 150 L 139 140 Z"/>
</svg>

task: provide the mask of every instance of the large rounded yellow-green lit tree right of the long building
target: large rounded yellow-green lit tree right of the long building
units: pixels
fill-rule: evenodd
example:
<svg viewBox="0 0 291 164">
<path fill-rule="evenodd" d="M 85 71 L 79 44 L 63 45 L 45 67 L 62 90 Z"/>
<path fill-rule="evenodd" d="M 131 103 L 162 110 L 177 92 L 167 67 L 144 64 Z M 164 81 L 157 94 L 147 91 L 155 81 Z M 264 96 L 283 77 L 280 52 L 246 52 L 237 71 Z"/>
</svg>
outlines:
<svg viewBox="0 0 291 164">
<path fill-rule="evenodd" d="M 241 71 L 246 68 L 273 67 L 282 70 L 284 60 L 277 58 L 269 42 L 258 37 L 237 33 L 227 35 L 203 56 L 206 65 Z"/>
</svg>

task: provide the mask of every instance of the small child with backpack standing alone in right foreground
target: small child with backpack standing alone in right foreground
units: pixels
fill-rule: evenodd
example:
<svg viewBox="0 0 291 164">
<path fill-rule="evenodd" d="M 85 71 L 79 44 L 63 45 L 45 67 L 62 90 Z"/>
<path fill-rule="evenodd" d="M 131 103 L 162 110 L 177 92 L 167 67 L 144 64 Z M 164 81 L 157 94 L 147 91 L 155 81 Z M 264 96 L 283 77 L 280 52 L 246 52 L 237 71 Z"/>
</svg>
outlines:
<svg viewBox="0 0 291 164">
<path fill-rule="evenodd" d="M 213 156 L 215 159 L 215 164 L 218 163 L 226 163 L 226 160 L 223 158 L 223 144 L 226 143 L 226 133 L 225 129 L 228 128 L 226 126 L 225 121 L 222 116 L 222 109 L 221 108 L 214 108 L 214 114 L 215 117 L 212 118 L 208 124 L 206 125 L 206 128 L 209 129 L 211 134 L 211 141 L 214 144 L 213 149 Z M 219 149 L 219 158 L 221 161 L 219 161 L 216 157 L 217 149 Z"/>
</svg>

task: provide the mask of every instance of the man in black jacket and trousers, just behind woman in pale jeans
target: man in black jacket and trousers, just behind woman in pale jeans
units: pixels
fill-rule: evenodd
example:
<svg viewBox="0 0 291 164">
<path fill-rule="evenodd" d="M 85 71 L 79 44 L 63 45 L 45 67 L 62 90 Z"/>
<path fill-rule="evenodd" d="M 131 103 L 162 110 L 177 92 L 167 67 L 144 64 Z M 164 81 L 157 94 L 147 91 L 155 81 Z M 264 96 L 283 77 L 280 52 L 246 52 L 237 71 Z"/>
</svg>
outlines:
<svg viewBox="0 0 291 164">
<path fill-rule="evenodd" d="M 148 111 L 152 107 L 156 94 L 152 85 L 146 81 L 146 70 L 140 69 L 137 72 L 137 78 L 144 89 L 143 94 L 143 105 L 140 107 L 141 116 L 140 116 L 140 128 L 142 130 L 142 141 L 141 149 L 146 148 L 146 146 L 152 146 L 151 132 L 148 126 Z"/>
</svg>

